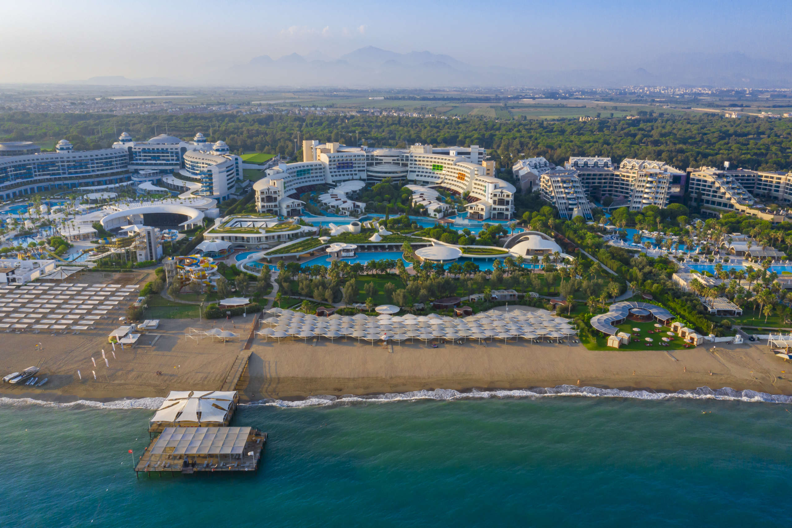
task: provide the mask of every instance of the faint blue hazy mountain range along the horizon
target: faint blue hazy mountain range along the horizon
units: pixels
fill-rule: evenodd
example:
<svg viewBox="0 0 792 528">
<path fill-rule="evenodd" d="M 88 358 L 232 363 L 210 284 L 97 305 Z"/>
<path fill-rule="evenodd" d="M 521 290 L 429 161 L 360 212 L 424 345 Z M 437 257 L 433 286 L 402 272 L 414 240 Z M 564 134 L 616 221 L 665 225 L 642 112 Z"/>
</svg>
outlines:
<svg viewBox="0 0 792 528">
<path fill-rule="evenodd" d="M 432 88 L 444 86 L 721 86 L 739 88 L 792 87 L 792 63 L 752 59 L 741 53 L 687 53 L 665 55 L 633 69 L 527 70 L 496 66 L 473 66 L 449 55 L 431 52 L 396 53 L 373 46 L 360 48 L 339 59 L 322 52 L 284 55 L 272 59 L 261 55 L 248 63 L 228 67 L 211 78 L 129 79 L 92 77 L 70 84 L 116 86 L 185 86 L 218 84 L 231 86 L 348 86 Z"/>
</svg>

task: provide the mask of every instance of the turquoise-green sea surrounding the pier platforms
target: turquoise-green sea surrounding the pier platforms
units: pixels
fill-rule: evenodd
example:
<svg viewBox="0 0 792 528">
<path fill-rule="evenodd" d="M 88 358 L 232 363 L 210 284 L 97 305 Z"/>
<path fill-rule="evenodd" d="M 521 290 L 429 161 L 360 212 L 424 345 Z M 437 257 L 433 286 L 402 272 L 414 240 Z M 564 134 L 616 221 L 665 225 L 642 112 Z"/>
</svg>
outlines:
<svg viewBox="0 0 792 528">
<path fill-rule="evenodd" d="M 792 401 L 730 389 L 242 405 L 249 473 L 141 475 L 162 399 L 0 399 L 0 526 L 790 526 Z M 133 453 L 128 453 L 133 450 Z"/>
</svg>

